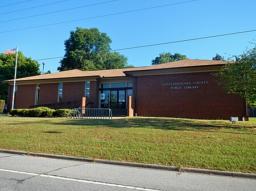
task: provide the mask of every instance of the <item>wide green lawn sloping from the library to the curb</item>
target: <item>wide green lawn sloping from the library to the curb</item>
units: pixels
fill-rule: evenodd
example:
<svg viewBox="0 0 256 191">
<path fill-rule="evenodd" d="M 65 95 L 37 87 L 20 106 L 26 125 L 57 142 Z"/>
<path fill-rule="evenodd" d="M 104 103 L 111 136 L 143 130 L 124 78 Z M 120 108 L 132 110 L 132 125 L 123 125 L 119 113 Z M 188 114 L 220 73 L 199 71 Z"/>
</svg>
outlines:
<svg viewBox="0 0 256 191">
<path fill-rule="evenodd" d="M 256 118 L 0 117 L 0 148 L 126 162 L 256 173 Z"/>
</svg>

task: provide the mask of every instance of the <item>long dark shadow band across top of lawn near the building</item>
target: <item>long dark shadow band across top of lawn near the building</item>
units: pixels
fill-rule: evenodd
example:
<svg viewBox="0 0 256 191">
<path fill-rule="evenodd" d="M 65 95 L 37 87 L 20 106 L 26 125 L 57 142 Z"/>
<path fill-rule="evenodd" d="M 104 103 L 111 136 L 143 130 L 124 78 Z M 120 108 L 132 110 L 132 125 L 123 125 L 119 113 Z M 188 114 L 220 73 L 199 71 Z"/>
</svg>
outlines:
<svg viewBox="0 0 256 191">
<path fill-rule="evenodd" d="M 235 126 L 226 121 L 210 121 L 210 120 L 188 120 L 177 118 L 122 118 L 116 120 L 88 120 L 75 119 L 64 120 L 63 123 L 57 125 L 79 125 L 79 126 L 94 126 L 105 128 L 153 128 L 164 130 L 188 130 L 188 131 L 210 131 L 216 133 L 236 133 L 236 134 L 251 134 L 248 131 L 225 131 L 225 129 L 249 129 L 252 127 Z M 256 127 L 256 126 L 255 126 Z M 221 131 L 219 131 L 221 130 Z"/>
</svg>

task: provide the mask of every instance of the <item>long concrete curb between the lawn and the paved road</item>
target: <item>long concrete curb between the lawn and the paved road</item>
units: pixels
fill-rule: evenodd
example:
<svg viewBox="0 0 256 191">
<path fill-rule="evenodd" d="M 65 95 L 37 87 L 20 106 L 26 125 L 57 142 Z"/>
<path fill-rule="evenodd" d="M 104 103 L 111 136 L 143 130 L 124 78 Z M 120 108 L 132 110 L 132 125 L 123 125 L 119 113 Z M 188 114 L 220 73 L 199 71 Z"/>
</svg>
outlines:
<svg viewBox="0 0 256 191">
<path fill-rule="evenodd" d="M 77 157 L 77 156 L 53 155 L 53 154 L 13 151 L 13 150 L 5 150 L 5 149 L 0 149 L 0 152 L 10 153 L 10 154 L 18 154 L 18 155 L 27 155 L 27 156 L 40 156 L 40 157 L 44 157 L 44 158 L 53 158 L 53 159 L 77 160 L 77 161 L 90 162 L 90 163 L 124 165 L 124 166 L 129 166 L 129 167 L 163 169 L 163 170 L 167 170 L 167 171 L 204 173 L 204 174 L 208 174 L 208 175 L 221 175 L 221 176 L 233 176 L 233 177 L 256 179 L 256 173 L 218 171 L 218 170 L 211 170 L 211 169 L 188 168 L 188 167 L 179 168 L 179 167 L 168 166 L 168 165 L 130 163 L 130 162 L 120 162 L 120 161 L 115 161 L 115 160 L 103 160 L 103 159 L 89 159 L 89 158 Z"/>
</svg>

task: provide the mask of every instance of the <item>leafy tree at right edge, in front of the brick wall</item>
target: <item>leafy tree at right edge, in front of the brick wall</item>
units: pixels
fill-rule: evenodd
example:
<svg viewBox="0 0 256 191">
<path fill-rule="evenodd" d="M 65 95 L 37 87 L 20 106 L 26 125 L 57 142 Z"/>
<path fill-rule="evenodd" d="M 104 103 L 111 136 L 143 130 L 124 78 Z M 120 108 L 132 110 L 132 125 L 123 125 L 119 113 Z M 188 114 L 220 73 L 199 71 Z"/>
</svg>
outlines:
<svg viewBox="0 0 256 191">
<path fill-rule="evenodd" d="M 256 46 L 233 58 L 236 61 L 226 64 L 214 75 L 220 77 L 219 83 L 225 92 L 246 98 L 250 107 L 256 103 Z"/>
</svg>

